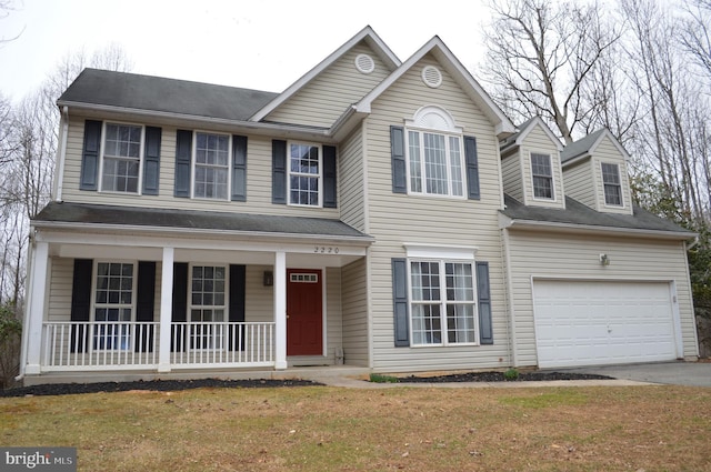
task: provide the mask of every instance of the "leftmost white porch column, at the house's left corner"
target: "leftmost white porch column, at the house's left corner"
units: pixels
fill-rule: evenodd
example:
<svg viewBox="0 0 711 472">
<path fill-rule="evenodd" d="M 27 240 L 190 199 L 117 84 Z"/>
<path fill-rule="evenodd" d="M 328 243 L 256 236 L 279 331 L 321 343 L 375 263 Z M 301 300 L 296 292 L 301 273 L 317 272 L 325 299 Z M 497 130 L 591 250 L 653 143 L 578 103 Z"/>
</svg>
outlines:
<svg viewBox="0 0 711 472">
<path fill-rule="evenodd" d="M 27 347 L 26 374 L 39 374 L 42 356 L 42 321 L 44 320 L 44 303 L 47 301 L 47 270 L 49 267 L 49 244 L 38 242 L 32 254 L 30 293 L 23 335 Z M 23 330 L 23 331 L 24 331 Z"/>
</svg>

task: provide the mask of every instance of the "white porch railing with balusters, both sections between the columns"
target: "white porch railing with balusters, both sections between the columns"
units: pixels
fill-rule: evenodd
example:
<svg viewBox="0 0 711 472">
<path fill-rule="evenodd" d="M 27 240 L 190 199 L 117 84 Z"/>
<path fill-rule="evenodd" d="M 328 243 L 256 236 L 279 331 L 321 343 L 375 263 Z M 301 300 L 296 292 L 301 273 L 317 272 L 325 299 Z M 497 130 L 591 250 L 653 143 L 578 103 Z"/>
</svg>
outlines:
<svg viewBox="0 0 711 472">
<path fill-rule="evenodd" d="M 43 371 L 157 369 L 158 322 L 44 322 Z M 171 323 L 171 368 L 274 365 L 274 323 Z"/>
</svg>

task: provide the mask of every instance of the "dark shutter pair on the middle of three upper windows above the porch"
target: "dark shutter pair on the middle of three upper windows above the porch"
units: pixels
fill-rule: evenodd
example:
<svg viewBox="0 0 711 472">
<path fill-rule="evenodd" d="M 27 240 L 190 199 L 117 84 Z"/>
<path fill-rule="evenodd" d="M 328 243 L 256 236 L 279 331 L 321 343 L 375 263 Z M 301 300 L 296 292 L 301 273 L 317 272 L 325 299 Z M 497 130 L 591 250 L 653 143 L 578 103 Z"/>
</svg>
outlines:
<svg viewBox="0 0 711 472">
<path fill-rule="evenodd" d="M 190 198 L 190 172 L 192 168 L 192 131 L 176 133 L 176 183 L 173 195 Z M 247 201 L 247 137 L 232 135 L 232 201 Z"/>
</svg>

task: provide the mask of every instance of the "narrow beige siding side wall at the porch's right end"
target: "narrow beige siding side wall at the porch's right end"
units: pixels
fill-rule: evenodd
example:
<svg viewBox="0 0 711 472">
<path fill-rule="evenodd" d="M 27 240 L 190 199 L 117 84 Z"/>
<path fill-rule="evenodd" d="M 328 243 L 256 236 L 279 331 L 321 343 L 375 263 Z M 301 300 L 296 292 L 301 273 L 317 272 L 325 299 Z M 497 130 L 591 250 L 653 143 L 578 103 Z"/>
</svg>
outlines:
<svg viewBox="0 0 711 472">
<path fill-rule="evenodd" d="M 342 269 L 343 355 L 348 365 L 368 365 L 368 281 L 365 259 Z"/>
</svg>

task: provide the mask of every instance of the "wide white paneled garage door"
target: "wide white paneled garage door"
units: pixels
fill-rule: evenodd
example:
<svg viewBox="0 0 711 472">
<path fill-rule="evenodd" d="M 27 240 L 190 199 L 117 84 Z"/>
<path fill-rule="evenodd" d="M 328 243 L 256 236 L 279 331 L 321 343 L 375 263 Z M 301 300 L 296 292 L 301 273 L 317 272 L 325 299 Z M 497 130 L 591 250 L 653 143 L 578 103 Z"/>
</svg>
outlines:
<svg viewBox="0 0 711 472">
<path fill-rule="evenodd" d="M 677 358 L 665 282 L 533 282 L 541 368 Z"/>
</svg>

